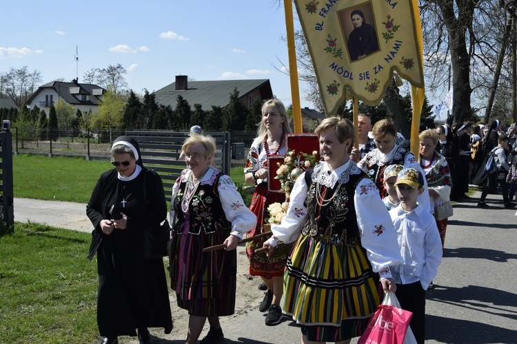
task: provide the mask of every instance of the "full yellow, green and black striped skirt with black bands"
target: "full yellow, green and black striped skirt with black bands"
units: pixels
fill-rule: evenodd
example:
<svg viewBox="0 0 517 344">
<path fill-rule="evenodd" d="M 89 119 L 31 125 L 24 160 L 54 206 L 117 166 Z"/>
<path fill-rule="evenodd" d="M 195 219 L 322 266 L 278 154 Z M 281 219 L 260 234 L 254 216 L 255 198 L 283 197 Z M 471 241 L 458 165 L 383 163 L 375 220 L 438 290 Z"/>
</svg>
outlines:
<svg viewBox="0 0 517 344">
<path fill-rule="evenodd" d="M 380 303 L 378 275 L 359 245 L 301 235 L 284 278 L 284 311 L 311 341 L 360 336 Z"/>
</svg>

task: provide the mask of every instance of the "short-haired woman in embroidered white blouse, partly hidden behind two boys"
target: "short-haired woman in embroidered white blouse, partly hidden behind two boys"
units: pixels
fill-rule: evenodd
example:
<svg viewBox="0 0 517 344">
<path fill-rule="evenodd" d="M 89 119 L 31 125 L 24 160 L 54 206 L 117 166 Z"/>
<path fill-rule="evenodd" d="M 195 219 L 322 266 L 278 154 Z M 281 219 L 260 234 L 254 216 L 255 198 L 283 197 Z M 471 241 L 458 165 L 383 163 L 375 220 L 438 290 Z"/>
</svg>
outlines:
<svg viewBox="0 0 517 344">
<path fill-rule="evenodd" d="M 424 174 L 418 160 L 413 153 L 406 151 L 396 144 L 397 130 L 392 120 L 379 120 L 375 123 L 372 132 L 376 149 L 367 153 L 357 166 L 366 172 L 368 177 L 373 180 L 381 194 L 381 198 L 386 197 L 386 189 L 383 185 L 383 175 L 386 166 L 398 164 L 405 169 L 412 167 L 416 171 Z M 429 204 L 429 193 L 427 193 L 427 182 L 424 184 L 425 192 L 418 196 L 418 204 L 422 204 L 428 211 L 431 210 Z"/>
</svg>

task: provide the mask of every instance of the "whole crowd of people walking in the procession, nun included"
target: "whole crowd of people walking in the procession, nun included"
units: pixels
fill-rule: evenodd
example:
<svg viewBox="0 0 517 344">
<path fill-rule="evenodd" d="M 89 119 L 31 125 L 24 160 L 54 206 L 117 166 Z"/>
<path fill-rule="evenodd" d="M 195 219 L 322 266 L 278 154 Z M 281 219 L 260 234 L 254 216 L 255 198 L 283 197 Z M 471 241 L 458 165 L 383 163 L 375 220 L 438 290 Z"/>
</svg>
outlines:
<svg viewBox="0 0 517 344">
<path fill-rule="evenodd" d="M 372 126 L 360 114 L 357 148 L 355 130 L 338 117 L 318 125 L 321 161 L 296 179 L 285 217 L 268 233 L 267 207 L 285 202 L 285 194 L 267 186 L 267 156 L 285 155 L 285 134 L 292 132 L 284 105 L 274 98 L 262 107 L 243 171 L 255 186 L 249 207 L 214 166 L 214 139 L 192 127 L 170 210 L 170 288 L 189 314 L 185 343 L 197 343 L 207 320 L 201 343 L 224 338 L 219 317 L 234 314 L 236 247 L 243 239 L 249 274 L 265 287 L 259 304 L 265 325 L 290 316 L 301 327 L 301 343 L 349 343 L 365 332 L 383 294 L 394 292 L 413 313 L 416 342 L 424 343 L 425 292 L 440 265 L 451 200 L 468 198 L 469 184 L 483 184 L 478 206 L 486 208 L 485 197 L 500 184 L 503 206 L 516 206 L 517 130 L 505 131 L 498 120 L 440 125 L 420 133 L 418 156 L 397 143 L 392 120 Z M 145 230 L 165 220 L 165 193 L 159 175 L 143 166 L 136 140 L 117 138 L 111 152 L 114 169 L 101 175 L 87 206 L 95 227 L 90 258 L 97 252 L 99 332 L 103 344 L 122 335 L 146 344 L 149 327 L 172 331 L 163 259 L 145 257 L 143 249 Z M 486 175 L 490 156 L 497 168 Z"/>
</svg>

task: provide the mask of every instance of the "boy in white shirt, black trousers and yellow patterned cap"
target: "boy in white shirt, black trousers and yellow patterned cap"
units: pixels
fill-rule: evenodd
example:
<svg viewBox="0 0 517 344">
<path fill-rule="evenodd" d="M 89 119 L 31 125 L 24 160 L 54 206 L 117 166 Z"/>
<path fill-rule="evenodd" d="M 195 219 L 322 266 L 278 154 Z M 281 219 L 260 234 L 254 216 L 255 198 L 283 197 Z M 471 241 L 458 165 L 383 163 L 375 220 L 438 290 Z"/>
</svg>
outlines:
<svg viewBox="0 0 517 344">
<path fill-rule="evenodd" d="M 436 221 L 429 211 L 416 202 L 424 192 L 422 173 L 409 167 L 397 175 L 398 200 L 389 211 L 398 236 L 403 264 L 392 266 L 396 297 L 404 310 L 413 312 L 411 330 L 417 343 L 425 337 L 425 290 L 429 287 L 442 259 L 442 241 Z"/>
</svg>

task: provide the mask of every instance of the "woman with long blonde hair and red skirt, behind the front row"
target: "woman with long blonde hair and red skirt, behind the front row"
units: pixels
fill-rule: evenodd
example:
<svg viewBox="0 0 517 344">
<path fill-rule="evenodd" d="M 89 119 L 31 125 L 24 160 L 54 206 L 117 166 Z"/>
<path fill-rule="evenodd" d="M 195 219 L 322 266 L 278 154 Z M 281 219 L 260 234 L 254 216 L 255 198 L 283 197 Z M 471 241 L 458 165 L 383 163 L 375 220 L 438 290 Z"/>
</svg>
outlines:
<svg viewBox="0 0 517 344">
<path fill-rule="evenodd" d="M 285 202 L 285 193 L 267 191 L 267 155 L 285 155 L 285 133 L 292 133 L 292 130 L 283 103 L 278 99 L 267 100 L 262 106 L 262 120 L 244 169 L 246 182 L 256 185 L 250 204 L 250 209 L 256 215 L 256 226 L 250 231 L 250 237 L 264 233 L 264 224 L 269 217 L 267 207 L 275 202 Z M 250 275 L 260 276 L 267 286 L 259 311 L 268 313 L 266 325 L 276 325 L 282 318 L 280 300 L 283 295 L 283 271 L 291 247 L 285 246 L 272 257 L 267 257 L 265 253 L 255 252 L 264 241 L 265 238 L 259 238 L 247 243 L 246 254 L 250 260 Z"/>
</svg>

